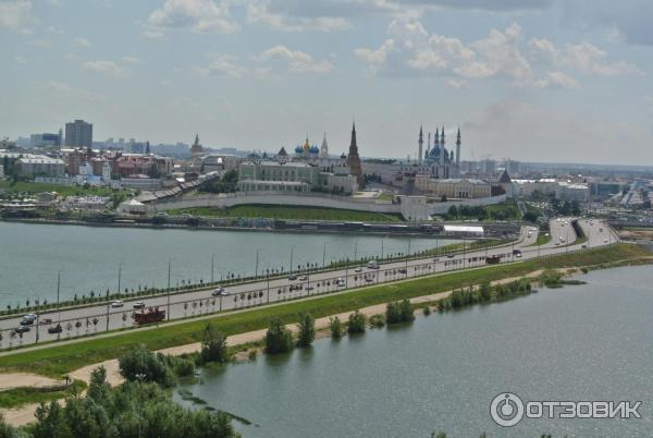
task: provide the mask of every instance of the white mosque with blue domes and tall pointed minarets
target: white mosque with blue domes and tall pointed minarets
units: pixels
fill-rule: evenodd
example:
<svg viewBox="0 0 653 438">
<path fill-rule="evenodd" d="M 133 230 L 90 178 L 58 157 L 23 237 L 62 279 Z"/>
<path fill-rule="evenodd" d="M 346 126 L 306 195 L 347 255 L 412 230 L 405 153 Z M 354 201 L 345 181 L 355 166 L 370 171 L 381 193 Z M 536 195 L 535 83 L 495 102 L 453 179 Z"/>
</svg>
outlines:
<svg viewBox="0 0 653 438">
<path fill-rule="evenodd" d="M 455 156 L 453 150 L 448 150 L 445 147 L 445 142 L 444 126 L 442 126 L 442 132 L 439 129 L 435 130 L 432 147 L 431 134 L 429 133 L 427 150 L 424 151 L 424 136 L 422 127 L 420 126 L 417 160 L 418 173 L 428 174 L 438 180 L 460 178 L 460 129 L 458 127 L 458 134 L 456 137 Z"/>
</svg>

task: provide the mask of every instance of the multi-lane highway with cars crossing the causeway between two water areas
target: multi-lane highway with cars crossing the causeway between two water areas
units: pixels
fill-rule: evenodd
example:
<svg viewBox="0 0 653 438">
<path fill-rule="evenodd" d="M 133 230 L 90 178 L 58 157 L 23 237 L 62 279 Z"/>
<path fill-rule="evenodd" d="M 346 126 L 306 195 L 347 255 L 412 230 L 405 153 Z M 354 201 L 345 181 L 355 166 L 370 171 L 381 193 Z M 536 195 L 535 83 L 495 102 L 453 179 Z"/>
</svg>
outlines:
<svg viewBox="0 0 653 438">
<path fill-rule="evenodd" d="M 565 252 L 581 250 L 584 247 L 604 246 L 618 241 L 617 235 L 607 224 L 594 220 L 592 224 L 587 219 L 580 219 L 579 224 L 588 238 L 587 242 L 574 244 L 576 233 L 571 226 L 571 218 L 550 221 L 552 240 L 545 245 L 533 245 L 538 239 L 538 228 L 525 226 L 521 235 L 515 244 L 483 248 L 473 252 L 465 252 L 440 258 L 427 257 L 411 260 L 384 263 L 380 269 L 369 269 L 366 266 L 359 268 L 335 269 L 303 277 L 298 275 L 297 280 L 288 278 L 276 278 L 273 280 L 262 279 L 258 282 L 247 284 L 234 284 L 227 287 L 226 296 L 212 296 L 213 288 L 175 293 L 171 295 L 158 295 L 156 297 L 140 299 L 147 307 L 159 306 L 169 311 L 170 319 L 206 315 L 219 311 L 230 311 L 267 303 L 275 303 L 300 296 L 323 294 L 340 290 L 361 288 L 364 285 L 403 280 L 406 278 L 440 273 L 451 270 L 485 266 L 486 256 L 500 256 L 501 261 L 514 261 L 530 259 L 538 256 L 562 254 Z M 560 241 L 564 239 L 564 242 Z M 558 243 L 557 245 L 555 243 Z M 571 244 L 569 244 L 571 242 Z M 513 255 L 513 250 L 520 250 L 521 255 Z M 344 280 L 345 285 L 338 285 L 338 279 Z M 169 304 L 170 300 L 170 304 Z M 70 339 L 77 336 L 102 332 L 107 329 L 120 329 L 134 326 L 132 318 L 133 304 L 139 299 L 125 300 L 124 307 L 113 308 L 106 304 L 98 304 L 83 308 L 62 309 L 60 316 L 57 311 L 41 313 L 39 318 L 52 319 L 52 324 L 36 323 L 30 330 L 22 334 L 13 333 L 22 319 L 22 315 L 15 318 L 0 320 L 0 333 L 2 333 L 2 348 L 10 344 L 35 343 L 37 332 L 39 342 L 57 339 Z M 109 316 L 109 323 L 107 317 Z M 48 333 L 48 328 L 61 320 L 63 331 L 59 334 Z M 38 329 L 37 329 L 38 328 Z"/>
</svg>

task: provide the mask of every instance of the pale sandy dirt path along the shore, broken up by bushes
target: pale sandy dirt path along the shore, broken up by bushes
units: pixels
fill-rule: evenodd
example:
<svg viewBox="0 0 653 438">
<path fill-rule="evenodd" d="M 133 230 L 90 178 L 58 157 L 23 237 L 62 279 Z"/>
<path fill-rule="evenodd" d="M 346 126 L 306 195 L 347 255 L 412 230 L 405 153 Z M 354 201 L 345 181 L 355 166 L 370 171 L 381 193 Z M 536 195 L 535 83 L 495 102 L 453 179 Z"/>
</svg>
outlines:
<svg viewBox="0 0 653 438">
<path fill-rule="evenodd" d="M 560 269 L 560 271 L 567 272 L 568 270 Z M 525 278 L 525 277 L 535 278 L 535 277 L 540 276 L 542 272 L 543 272 L 543 270 L 540 269 L 540 270 L 530 272 L 526 276 L 520 276 L 520 277 L 515 277 L 515 278 L 506 278 L 506 279 L 493 281 L 492 284 L 509 283 L 512 281 L 516 281 L 516 280 L 518 280 L 520 278 Z M 442 299 L 448 296 L 449 294 L 451 294 L 451 291 L 439 292 L 439 293 L 434 293 L 431 295 L 423 295 L 423 296 L 417 296 L 415 299 L 410 299 L 410 302 L 414 304 L 434 302 L 434 301 L 442 300 Z M 364 308 L 359 309 L 359 312 L 368 317 L 372 316 L 372 315 L 384 314 L 385 313 L 385 303 L 375 304 L 375 305 L 369 306 L 369 307 L 364 307 Z M 333 318 L 334 316 L 337 316 L 342 321 L 346 321 L 347 318 L 349 317 L 349 314 L 352 314 L 352 313 L 353 312 L 344 312 L 342 314 L 318 318 L 318 319 L 316 319 L 316 330 L 321 330 L 321 329 L 328 328 L 329 324 L 330 324 L 330 318 Z M 288 324 L 286 327 L 293 332 L 297 331 L 296 324 Z M 261 339 L 263 339 L 263 337 L 266 336 L 266 331 L 267 331 L 267 329 L 261 329 L 261 330 L 249 331 L 246 333 L 233 334 L 226 339 L 226 343 L 230 346 L 234 346 L 234 345 L 242 345 L 242 344 L 246 344 L 246 343 L 257 342 L 257 341 L 260 341 Z M 185 344 L 185 345 L 178 345 L 178 346 L 172 346 L 169 349 L 159 350 L 159 352 L 161 352 L 163 354 L 170 354 L 170 355 L 181 355 L 184 353 L 195 353 L 195 352 L 199 351 L 199 349 L 200 349 L 200 343 L 195 342 L 195 343 L 189 343 L 189 344 Z M 120 369 L 119 369 L 116 358 L 108 360 L 108 361 L 100 362 L 97 364 L 87 365 L 83 368 L 79 368 L 79 369 L 76 369 L 76 370 L 70 373 L 69 376 L 73 379 L 84 380 L 88 384 L 90 381 L 90 373 L 99 366 L 104 366 L 104 368 L 107 369 L 107 381 L 111 386 L 116 386 L 124 381 L 123 377 L 120 375 Z M 0 374 L 0 391 L 2 390 L 2 381 L 9 382 L 9 381 L 11 381 L 12 376 L 19 376 L 19 375 L 21 376 L 21 378 L 20 378 L 21 387 L 35 386 L 35 385 L 39 385 L 39 382 L 40 382 L 40 385 L 51 385 L 51 381 L 56 381 L 56 380 L 49 379 L 47 377 L 38 376 L 35 374 L 28 374 L 28 373 Z M 46 381 L 49 381 L 49 382 L 46 384 Z M 16 385 L 14 385 L 13 387 L 15 388 Z M 34 421 L 34 412 L 37 406 L 38 406 L 38 404 L 27 404 L 27 405 L 21 406 L 15 410 L 0 410 L 0 413 L 4 416 L 4 419 L 7 421 L 7 423 L 9 423 L 13 426 L 22 426 L 22 425 L 25 425 L 25 424 Z"/>
</svg>

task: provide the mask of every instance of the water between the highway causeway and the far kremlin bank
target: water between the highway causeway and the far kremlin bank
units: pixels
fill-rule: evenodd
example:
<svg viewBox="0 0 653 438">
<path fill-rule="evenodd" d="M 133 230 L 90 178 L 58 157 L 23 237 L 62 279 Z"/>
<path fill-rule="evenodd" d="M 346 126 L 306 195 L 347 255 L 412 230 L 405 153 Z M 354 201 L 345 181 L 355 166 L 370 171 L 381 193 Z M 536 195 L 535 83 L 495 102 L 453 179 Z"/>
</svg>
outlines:
<svg viewBox="0 0 653 438">
<path fill-rule="evenodd" d="M 442 243 L 444 242 L 444 243 Z M 410 252 L 459 241 L 411 239 Z M 258 251 L 259 273 L 264 269 L 408 251 L 407 238 L 352 234 L 271 233 L 252 231 L 157 230 L 32 224 L 0 221 L 0 307 L 25 305 L 37 297 L 57 299 L 61 269 L 61 299 L 168 284 L 205 282 L 232 272 L 254 275 Z M 212 256 L 213 255 L 213 256 Z"/>
</svg>

